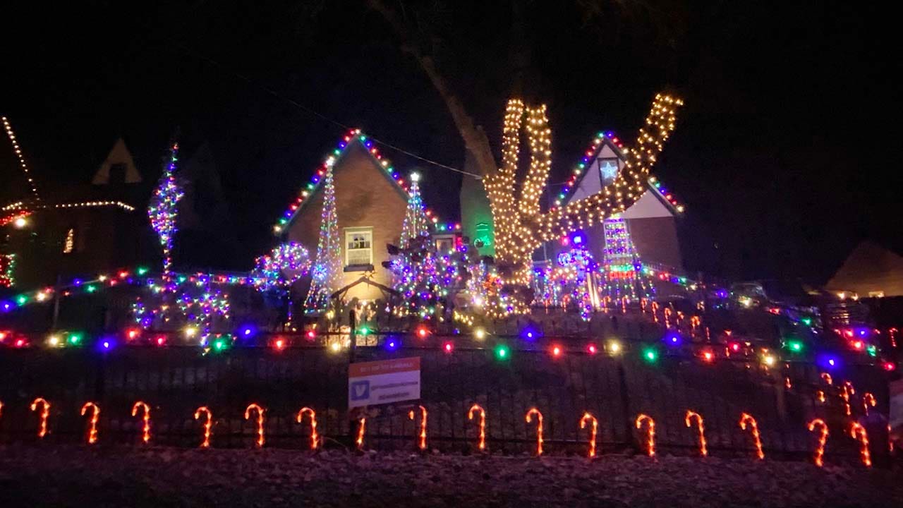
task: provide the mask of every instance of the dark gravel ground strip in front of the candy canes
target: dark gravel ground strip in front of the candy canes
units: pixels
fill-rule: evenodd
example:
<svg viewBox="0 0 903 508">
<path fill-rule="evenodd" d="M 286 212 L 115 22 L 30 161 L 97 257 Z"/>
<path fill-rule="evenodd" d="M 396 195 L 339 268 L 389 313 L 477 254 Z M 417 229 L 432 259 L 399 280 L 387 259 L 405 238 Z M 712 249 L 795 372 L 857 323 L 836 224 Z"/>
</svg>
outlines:
<svg viewBox="0 0 903 508">
<path fill-rule="evenodd" d="M 0 506 L 903 506 L 900 471 L 666 456 L 0 447 Z"/>
</svg>

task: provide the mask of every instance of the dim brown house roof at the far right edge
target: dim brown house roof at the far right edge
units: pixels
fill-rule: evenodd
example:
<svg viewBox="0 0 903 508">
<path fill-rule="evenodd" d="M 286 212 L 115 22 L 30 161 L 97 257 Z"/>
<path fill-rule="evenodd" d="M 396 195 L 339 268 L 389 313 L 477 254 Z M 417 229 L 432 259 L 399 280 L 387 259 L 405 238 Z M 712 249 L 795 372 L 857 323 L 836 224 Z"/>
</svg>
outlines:
<svg viewBox="0 0 903 508">
<path fill-rule="evenodd" d="M 863 241 L 824 287 L 829 291 L 852 291 L 860 296 L 877 292 L 901 296 L 903 257 L 876 243 Z"/>
</svg>

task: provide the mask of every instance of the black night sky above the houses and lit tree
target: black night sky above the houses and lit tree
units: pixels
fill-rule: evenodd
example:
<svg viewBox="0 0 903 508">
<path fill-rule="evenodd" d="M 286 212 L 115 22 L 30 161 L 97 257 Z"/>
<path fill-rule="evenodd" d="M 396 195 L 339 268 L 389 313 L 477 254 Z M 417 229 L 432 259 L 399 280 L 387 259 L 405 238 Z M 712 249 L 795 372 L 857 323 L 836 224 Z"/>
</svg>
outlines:
<svg viewBox="0 0 903 508">
<path fill-rule="evenodd" d="M 152 180 L 173 127 L 189 146 L 208 140 L 238 243 L 182 251 L 221 268 L 249 268 L 270 246 L 270 226 L 344 131 L 288 99 L 461 167 L 442 101 L 363 0 L 295 4 L 6 12 L 0 113 L 48 190 L 87 181 L 117 136 Z M 440 65 L 497 142 L 510 87 L 508 3 L 468 4 L 449 2 Z M 586 21 L 573 5 L 528 3 L 530 99 L 549 104 L 551 181 L 595 132 L 632 139 L 652 96 L 669 89 L 687 106 L 656 174 L 687 204 L 687 268 L 824 282 L 859 240 L 903 251 L 898 27 L 880 6 L 599 4 Z M 421 169 L 435 210 L 457 213 L 448 189 L 460 175 L 383 152 L 403 171 Z M 17 171 L 3 140 L 4 198 L 24 193 Z"/>
</svg>

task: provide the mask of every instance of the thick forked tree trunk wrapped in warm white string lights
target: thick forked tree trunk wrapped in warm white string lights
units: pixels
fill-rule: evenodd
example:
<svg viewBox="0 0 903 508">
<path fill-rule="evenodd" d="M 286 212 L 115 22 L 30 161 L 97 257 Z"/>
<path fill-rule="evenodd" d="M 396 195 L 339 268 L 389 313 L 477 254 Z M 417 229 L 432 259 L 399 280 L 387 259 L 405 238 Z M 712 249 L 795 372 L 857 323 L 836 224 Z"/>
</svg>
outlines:
<svg viewBox="0 0 903 508">
<path fill-rule="evenodd" d="M 552 131 L 545 105 L 529 108 L 519 99 L 508 101 L 502 130 L 502 165 L 483 176 L 496 228 L 496 264 L 502 284 L 498 298 L 489 306 L 490 315 L 524 314 L 529 310 L 531 255 L 543 242 L 604 221 L 639 199 L 646 190 L 649 169 L 674 130 L 676 109 L 682 105 L 680 99 L 656 95 L 646 123 L 639 129 L 637 143 L 628 149 L 625 167 L 615 181 L 585 199 L 542 212 L 539 199 L 552 162 Z M 517 185 L 520 131 L 525 116 L 530 166 L 524 181 Z"/>
</svg>

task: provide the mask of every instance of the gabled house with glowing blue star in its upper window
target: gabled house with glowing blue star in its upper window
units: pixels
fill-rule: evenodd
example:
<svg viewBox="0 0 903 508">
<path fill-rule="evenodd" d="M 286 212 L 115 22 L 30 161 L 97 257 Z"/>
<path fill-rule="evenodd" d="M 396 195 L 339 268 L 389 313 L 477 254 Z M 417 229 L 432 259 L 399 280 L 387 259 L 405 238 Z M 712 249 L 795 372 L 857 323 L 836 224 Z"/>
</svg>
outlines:
<svg viewBox="0 0 903 508">
<path fill-rule="evenodd" d="M 627 150 L 619 143 L 617 136 L 610 132 L 600 133 L 557 195 L 554 205 L 565 206 L 600 192 L 618 177 L 626 157 Z M 647 191 L 620 213 L 620 218 L 627 223 L 634 248 L 643 263 L 680 272 L 683 270 L 683 258 L 676 220 L 684 212 L 684 206 L 678 204 L 655 178 L 650 178 L 646 186 Z M 601 262 L 605 248 L 603 225 L 597 223 L 582 232 L 593 258 Z M 559 250 L 570 249 L 567 243 L 568 239 L 550 242 L 537 251 L 535 258 L 555 259 Z"/>
</svg>

